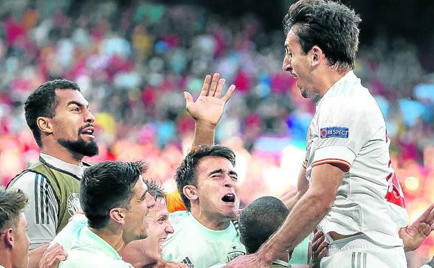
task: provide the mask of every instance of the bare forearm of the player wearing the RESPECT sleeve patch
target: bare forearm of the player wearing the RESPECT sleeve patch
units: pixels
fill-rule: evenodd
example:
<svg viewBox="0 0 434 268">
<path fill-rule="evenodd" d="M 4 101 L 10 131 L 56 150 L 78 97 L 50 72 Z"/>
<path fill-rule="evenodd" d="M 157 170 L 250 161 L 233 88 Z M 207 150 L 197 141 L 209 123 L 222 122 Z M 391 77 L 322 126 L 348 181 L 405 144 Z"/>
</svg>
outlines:
<svg viewBox="0 0 434 268">
<path fill-rule="evenodd" d="M 325 200 L 326 199 L 326 200 Z M 291 211 L 278 232 L 261 249 L 260 258 L 271 264 L 284 250 L 296 247 L 309 235 L 332 206 L 334 198 L 325 198 L 319 191 L 308 190 Z"/>
</svg>

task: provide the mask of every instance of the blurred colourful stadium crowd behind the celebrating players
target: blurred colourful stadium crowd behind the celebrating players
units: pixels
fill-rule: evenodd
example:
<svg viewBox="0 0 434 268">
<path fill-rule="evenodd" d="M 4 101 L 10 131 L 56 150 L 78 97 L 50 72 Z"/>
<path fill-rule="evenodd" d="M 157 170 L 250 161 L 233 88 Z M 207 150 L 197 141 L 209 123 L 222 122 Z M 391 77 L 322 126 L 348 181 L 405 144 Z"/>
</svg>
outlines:
<svg viewBox="0 0 434 268">
<path fill-rule="evenodd" d="M 194 126 L 182 91 L 197 97 L 216 71 L 236 85 L 216 140 L 236 152 L 243 205 L 294 189 L 314 100 L 281 70 L 281 21 L 292 1 L 236 2 L 1 1 L 0 184 L 38 159 L 24 100 L 65 78 L 97 117 L 100 153 L 87 161 L 145 159 L 146 176 L 175 190 Z M 384 2 L 350 3 L 363 21 L 355 73 L 387 121 L 413 221 L 434 202 L 434 4 Z M 431 259 L 433 244 L 431 235 L 409 253 L 410 267 Z"/>
</svg>

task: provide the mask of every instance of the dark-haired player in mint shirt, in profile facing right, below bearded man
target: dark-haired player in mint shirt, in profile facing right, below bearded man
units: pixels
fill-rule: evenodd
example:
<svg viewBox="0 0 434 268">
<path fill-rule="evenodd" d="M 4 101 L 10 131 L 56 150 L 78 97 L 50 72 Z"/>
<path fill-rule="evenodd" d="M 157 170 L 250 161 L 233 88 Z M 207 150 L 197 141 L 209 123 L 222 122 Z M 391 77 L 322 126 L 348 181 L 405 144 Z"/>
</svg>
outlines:
<svg viewBox="0 0 434 268">
<path fill-rule="evenodd" d="M 141 176 L 146 170 L 140 161 L 106 161 L 86 169 L 80 196 L 88 224 L 72 226 L 71 250 L 60 268 L 133 267 L 120 252 L 148 234 L 144 217 L 155 201 Z"/>
</svg>

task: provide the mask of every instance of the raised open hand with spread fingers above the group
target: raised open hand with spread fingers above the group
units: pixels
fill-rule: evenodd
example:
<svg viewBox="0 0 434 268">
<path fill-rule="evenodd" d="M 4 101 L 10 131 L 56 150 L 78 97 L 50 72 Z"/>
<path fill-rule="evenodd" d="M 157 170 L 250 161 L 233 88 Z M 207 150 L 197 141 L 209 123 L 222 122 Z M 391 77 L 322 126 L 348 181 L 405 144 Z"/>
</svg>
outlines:
<svg viewBox="0 0 434 268">
<path fill-rule="evenodd" d="M 230 99 L 232 93 L 234 93 L 235 86 L 231 85 L 225 95 L 220 97 L 223 93 L 223 87 L 226 80 L 220 79 L 220 74 L 215 73 L 211 79 L 211 75 L 207 74 L 204 79 L 200 96 L 195 102 L 190 93 L 184 91 L 184 97 L 186 99 L 186 109 L 198 123 L 207 123 L 216 127 L 218 121 L 223 115 L 223 108 L 227 100 Z"/>
</svg>

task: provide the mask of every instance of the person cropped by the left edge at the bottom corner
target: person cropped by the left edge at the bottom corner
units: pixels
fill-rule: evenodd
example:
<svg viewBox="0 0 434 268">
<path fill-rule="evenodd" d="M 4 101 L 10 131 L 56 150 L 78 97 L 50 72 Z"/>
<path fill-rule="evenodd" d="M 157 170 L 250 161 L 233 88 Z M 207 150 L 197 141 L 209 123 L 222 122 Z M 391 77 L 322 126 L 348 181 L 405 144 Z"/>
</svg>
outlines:
<svg viewBox="0 0 434 268">
<path fill-rule="evenodd" d="M 30 240 L 26 234 L 26 194 L 0 187 L 0 267 L 27 268 Z"/>
</svg>

